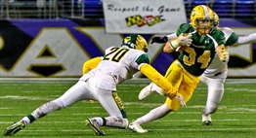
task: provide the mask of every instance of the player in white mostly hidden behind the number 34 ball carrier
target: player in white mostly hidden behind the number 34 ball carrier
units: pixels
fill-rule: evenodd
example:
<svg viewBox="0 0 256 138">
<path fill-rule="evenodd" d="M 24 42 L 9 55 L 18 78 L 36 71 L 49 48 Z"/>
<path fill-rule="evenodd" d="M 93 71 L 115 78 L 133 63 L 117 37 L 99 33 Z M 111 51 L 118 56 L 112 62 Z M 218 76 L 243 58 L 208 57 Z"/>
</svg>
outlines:
<svg viewBox="0 0 256 138">
<path fill-rule="evenodd" d="M 215 13 L 215 27 L 219 25 L 219 17 Z M 229 27 L 218 27 L 225 34 L 226 46 L 242 45 L 256 42 L 256 33 L 238 37 L 235 32 Z M 176 38 L 176 34 L 170 34 L 163 37 L 154 37 L 152 43 L 165 43 L 168 40 Z M 227 54 L 229 59 L 229 55 Z M 222 100 L 224 94 L 224 84 L 227 78 L 228 62 L 222 62 L 216 55 L 212 60 L 211 64 L 207 67 L 204 73 L 200 76 L 200 82 L 208 86 L 206 106 L 202 112 L 202 124 L 211 125 L 212 119 L 211 114 L 215 113 Z M 153 91 L 163 95 L 161 88 L 155 86 L 153 83 L 143 88 L 139 94 L 139 99 L 142 100 L 149 96 Z"/>
</svg>

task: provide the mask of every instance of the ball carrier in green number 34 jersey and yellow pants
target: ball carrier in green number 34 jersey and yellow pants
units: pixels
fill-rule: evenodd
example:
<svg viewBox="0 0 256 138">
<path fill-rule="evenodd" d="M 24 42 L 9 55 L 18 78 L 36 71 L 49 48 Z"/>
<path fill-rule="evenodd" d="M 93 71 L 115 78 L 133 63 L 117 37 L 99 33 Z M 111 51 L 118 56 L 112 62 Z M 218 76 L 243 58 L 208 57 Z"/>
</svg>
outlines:
<svg viewBox="0 0 256 138">
<path fill-rule="evenodd" d="M 191 24 L 181 24 L 176 32 L 179 37 L 168 41 L 163 48 L 164 52 L 183 49 L 167 69 L 165 78 L 179 90 L 185 102 L 191 99 L 192 92 L 199 83 L 199 76 L 210 65 L 216 54 L 219 60 L 223 62 L 228 60 L 224 33 L 214 27 L 213 11 L 204 5 L 196 6 L 192 9 L 191 22 Z M 163 118 L 170 112 L 177 111 L 180 106 L 180 102 L 176 99 L 166 98 L 163 105 L 132 121 L 129 129 L 139 133 L 148 132 L 141 124 Z"/>
</svg>

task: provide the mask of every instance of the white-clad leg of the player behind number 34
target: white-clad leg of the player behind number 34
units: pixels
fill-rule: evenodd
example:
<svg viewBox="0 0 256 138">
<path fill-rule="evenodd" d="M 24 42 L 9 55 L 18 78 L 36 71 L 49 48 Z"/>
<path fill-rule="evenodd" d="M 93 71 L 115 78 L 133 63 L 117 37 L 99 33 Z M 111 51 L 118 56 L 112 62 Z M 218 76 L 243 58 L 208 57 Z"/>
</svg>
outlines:
<svg viewBox="0 0 256 138">
<path fill-rule="evenodd" d="M 202 124 L 211 125 L 211 114 L 217 111 L 223 97 L 225 79 L 201 76 L 200 80 L 208 86 L 206 106 L 202 113 Z M 205 80 L 207 80 L 207 82 L 205 82 Z"/>
</svg>

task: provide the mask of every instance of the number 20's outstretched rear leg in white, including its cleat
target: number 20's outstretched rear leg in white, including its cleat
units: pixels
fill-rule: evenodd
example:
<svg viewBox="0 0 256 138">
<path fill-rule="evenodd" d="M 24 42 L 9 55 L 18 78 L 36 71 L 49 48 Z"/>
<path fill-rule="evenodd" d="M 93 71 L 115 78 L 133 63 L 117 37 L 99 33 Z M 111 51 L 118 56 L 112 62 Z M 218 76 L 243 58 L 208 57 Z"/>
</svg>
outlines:
<svg viewBox="0 0 256 138">
<path fill-rule="evenodd" d="M 85 99 L 89 96 L 89 92 L 86 89 L 86 87 L 83 86 L 83 84 L 85 83 L 79 81 L 77 84 L 66 90 L 61 97 L 41 105 L 40 107 L 35 109 L 31 114 L 23 117 L 21 121 L 18 121 L 10 125 L 5 129 L 4 135 L 14 135 L 31 122 L 36 121 L 42 117 L 45 117 L 46 115 L 54 111 L 64 109 L 67 106 L 71 106 L 73 103 L 79 100 Z"/>
</svg>

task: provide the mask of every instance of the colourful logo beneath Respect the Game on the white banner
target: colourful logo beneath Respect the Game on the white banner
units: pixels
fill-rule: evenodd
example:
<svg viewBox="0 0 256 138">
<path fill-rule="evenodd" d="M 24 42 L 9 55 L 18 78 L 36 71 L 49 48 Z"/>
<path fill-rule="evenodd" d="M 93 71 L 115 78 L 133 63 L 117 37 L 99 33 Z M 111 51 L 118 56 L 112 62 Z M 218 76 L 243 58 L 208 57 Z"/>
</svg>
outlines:
<svg viewBox="0 0 256 138">
<path fill-rule="evenodd" d="M 126 17 L 126 23 L 127 26 L 130 27 L 132 25 L 137 24 L 139 27 L 142 27 L 144 25 L 152 26 L 158 22 L 164 21 L 164 18 L 161 18 L 162 16 L 146 16 L 142 17 L 140 15 L 132 16 L 132 17 Z"/>
</svg>

